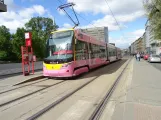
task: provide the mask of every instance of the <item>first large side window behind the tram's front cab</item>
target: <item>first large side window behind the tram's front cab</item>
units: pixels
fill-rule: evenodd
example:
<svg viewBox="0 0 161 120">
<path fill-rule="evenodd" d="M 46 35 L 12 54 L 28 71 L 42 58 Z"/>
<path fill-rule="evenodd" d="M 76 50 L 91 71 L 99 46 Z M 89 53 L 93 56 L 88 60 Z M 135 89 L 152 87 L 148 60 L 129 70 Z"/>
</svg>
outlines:
<svg viewBox="0 0 161 120">
<path fill-rule="evenodd" d="M 87 43 L 77 40 L 77 44 L 75 45 L 75 54 L 76 60 L 87 59 Z"/>
</svg>

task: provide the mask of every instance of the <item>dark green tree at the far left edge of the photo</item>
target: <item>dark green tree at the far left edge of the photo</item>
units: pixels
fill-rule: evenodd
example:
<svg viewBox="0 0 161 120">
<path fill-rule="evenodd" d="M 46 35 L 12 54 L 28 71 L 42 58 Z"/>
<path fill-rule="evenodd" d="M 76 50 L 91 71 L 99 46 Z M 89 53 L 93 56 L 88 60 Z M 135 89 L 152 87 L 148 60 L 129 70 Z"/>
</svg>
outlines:
<svg viewBox="0 0 161 120">
<path fill-rule="evenodd" d="M 8 60 L 10 58 L 11 34 L 5 26 L 0 26 L 0 60 Z"/>
</svg>

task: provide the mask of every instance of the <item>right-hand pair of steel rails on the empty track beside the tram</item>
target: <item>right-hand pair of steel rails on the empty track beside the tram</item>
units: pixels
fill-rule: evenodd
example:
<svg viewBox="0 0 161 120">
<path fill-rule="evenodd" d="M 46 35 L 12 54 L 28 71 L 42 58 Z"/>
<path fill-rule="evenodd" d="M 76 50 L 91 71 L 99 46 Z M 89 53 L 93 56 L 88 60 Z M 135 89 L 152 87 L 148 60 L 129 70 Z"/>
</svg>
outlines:
<svg viewBox="0 0 161 120">
<path fill-rule="evenodd" d="M 107 95 L 105 96 L 106 97 L 109 97 L 113 91 L 113 89 L 115 88 L 115 86 L 117 85 L 119 79 L 121 78 L 122 74 L 124 73 L 125 69 L 127 68 L 129 62 L 131 60 L 128 61 L 128 63 L 126 64 L 126 66 L 124 67 L 123 71 L 121 72 L 121 74 L 117 77 L 116 81 L 114 82 L 114 84 L 112 85 L 111 89 L 108 91 Z M 46 112 L 48 112 L 49 110 L 53 109 L 54 107 L 56 107 L 58 104 L 60 104 L 61 102 L 63 102 L 64 100 L 66 100 L 67 98 L 69 98 L 70 96 L 72 96 L 74 93 L 78 92 L 79 90 L 81 90 L 82 88 L 84 88 L 85 86 L 87 86 L 88 84 L 92 83 L 93 81 L 95 81 L 99 76 L 91 79 L 90 81 L 84 83 L 83 85 L 77 87 L 76 89 L 74 89 L 73 91 L 71 91 L 70 93 L 64 95 L 63 97 L 61 97 L 60 99 L 54 101 L 53 103 L 51 103 L 50 105 L 48 105 L 47 107 L 41 109 L 40 111 L 38 111 L 37 113 L 33 114 L 32 116 L 28 117 L 26 120 L 35 120 L 35 119 L 38 119 L 39 117 L 41 117 L 43 114 L 45 114 Z M 105 99 L 104 98 L 104 99 Z M 104 103 L 104 101 L 101 101 L 100 105 L 102 105 L 102 103 Z M 99 105 L 99 106 L 100 106 Z M 98 107 L 100 108 L 100 107 Z M 98 109 L 96 108 L 96 109 Z M 99 110 L 99 109 L 98 109 Z M 97 110 L 97 111 L 98 111 Z M 91 118 L 93 118 L 94 114 L 97 113 L 94 112 L 92 114 L 92 116 L 90 117 L 90 120 L 92 120 Z"/>
</svg>

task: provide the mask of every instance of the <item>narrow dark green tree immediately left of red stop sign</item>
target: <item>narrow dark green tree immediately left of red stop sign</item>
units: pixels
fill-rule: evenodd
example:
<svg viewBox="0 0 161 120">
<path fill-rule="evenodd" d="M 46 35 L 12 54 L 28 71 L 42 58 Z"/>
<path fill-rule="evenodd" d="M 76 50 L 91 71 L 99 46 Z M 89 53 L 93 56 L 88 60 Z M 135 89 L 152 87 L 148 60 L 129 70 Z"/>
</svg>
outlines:
<svg viewBox="0 0 161 120">
<path fill-rule="evenodd" d="M 17 60 L 21 59 L 21 46 L 25 45 L 25 29 L 17 28 L 12 39 L 12 51 L 16 55 Z"/>
</svg>

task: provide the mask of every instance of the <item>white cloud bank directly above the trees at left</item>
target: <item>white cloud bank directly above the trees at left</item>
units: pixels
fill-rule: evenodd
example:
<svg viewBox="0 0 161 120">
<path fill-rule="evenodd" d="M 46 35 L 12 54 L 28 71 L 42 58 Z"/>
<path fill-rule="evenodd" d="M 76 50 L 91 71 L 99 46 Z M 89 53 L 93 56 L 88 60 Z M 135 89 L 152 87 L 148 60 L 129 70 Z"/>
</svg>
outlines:
<svg viewBox="0 0 161 120">
<path fill-rule="evenodd" d="M 10 5 L 14 5 L 13 1 L 9 1 Z M 52 15 L 41 5 L 33 5 L 28 8 L 21 8 L 19 10 L 9 10 L 8 12 L 4 12 L 0 14 L 0 26 L 5 25 L 10 29 L 11 33 L 14 33 L 18 27 L 24 27 L 24 24 L 28 22 L 31 17 L 36 15 Z"/>
</svg>

